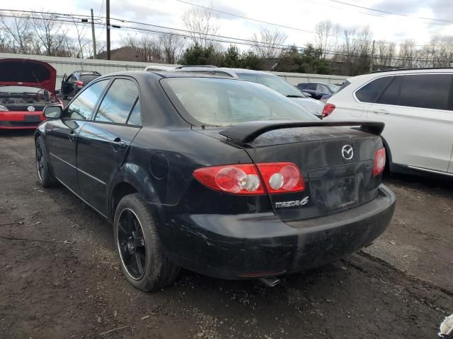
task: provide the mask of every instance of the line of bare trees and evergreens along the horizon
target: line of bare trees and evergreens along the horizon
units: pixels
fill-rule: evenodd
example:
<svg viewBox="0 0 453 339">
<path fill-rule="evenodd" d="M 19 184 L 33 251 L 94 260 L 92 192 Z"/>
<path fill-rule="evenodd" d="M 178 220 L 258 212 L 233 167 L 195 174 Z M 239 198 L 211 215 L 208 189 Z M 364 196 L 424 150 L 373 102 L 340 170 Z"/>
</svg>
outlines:
<svg viewBox="0 0 453 339">
<path fill-rule="evenodd" d="M 248 39 L 227 44 L 218 35 L 212 8 L 193 7 L 182 16 L 185 34 L 140 32 L 125 35 L 121 47 L 132 47 L 137 61 L 321 73 L 355 76 L 370 70 L 453 66 L 453 37 L 435 36 L 427 45 L 374 40 L 371 28 L 342 28 L 330 20 L 315 27 L 303 46 L 287 43 L 280 30 L 261 28 Z M 239 48 L 241 46 L 241 48 Z M 245 46 L 245 47 L 244 47 Z M 105 41 L 97 40 L 99 52 Z M 0 16 L 0 52 L 56 57 L 93 56 L 91 30 L 79 18 L 62 20 L 53 13 Z"/>
</svg>

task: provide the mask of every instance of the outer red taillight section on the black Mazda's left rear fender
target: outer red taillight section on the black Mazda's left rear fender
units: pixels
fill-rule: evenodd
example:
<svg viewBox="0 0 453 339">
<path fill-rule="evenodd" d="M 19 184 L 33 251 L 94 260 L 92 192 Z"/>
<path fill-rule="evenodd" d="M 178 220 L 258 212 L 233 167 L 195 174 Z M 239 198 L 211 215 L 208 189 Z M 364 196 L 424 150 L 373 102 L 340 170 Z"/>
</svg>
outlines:
<svg viewBox="0 0 453 339">
<path fill-rule="evenodd" d="M 205 186 L 232 194 L 265 194 L 253 164 L 214 166 L 195 169 L 193 176 Z"/>
</svg>

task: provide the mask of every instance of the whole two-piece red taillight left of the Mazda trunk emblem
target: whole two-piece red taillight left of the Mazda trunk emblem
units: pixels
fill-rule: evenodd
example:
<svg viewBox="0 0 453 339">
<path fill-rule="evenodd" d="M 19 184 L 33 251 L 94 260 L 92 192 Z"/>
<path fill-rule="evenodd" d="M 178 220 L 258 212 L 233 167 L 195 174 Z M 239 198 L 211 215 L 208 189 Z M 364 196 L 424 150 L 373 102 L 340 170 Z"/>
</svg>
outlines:
<svg viewBox="0 0 453 339">
<path fill-rule="evenodd" d="M 195 169 L 193 176 L 210 189 L 230 194 L 289 193 L 305 189 L 302 174 L 292 162 L 203 167 Z"/>
</svg>

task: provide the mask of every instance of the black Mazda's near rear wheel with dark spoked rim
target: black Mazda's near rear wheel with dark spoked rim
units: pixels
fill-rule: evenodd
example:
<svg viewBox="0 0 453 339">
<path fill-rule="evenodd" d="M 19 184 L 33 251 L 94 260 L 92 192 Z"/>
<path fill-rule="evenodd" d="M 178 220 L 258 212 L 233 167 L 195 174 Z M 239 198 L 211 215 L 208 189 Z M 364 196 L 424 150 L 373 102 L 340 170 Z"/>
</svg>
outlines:
<svg viewBox="0 0 453 339">
<path fill-rule="evenodd" d="M 162 251 L 154 218 L 142 196 L 130 194 L 121 199 L 113 230 L 122 273 L 132 286 L 151 292 L 176 280 L 179 268 Z"/>
</svg>

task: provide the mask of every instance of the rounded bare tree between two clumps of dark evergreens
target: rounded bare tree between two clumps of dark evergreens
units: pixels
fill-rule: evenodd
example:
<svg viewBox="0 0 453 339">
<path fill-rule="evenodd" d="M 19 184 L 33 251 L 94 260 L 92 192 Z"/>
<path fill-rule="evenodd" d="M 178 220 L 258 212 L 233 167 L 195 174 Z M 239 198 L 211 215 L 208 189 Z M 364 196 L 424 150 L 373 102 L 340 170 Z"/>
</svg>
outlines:
<svg viewBox="0 0 453 339">
<path fill-rule="evenodd" d="M 286 40 L 287 35 L 280 30 L 261 28 L 259 35 L 253 33 L 251 37 L 253 52 L 264 60 L 266 69 L 272 69 L 276 59 L 280 58 Z"/>
</svg>

